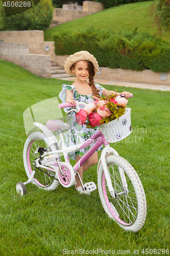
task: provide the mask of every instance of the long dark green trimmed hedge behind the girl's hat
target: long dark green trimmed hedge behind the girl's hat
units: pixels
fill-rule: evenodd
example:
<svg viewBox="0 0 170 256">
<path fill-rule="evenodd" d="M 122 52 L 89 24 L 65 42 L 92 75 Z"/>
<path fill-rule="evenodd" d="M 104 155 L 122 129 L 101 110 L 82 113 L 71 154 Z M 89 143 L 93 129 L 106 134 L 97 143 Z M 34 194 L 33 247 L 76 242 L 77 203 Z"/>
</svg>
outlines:
<svg viewBox="0 0 170 256">
<path fill-rule="evenodd" d="M 170 70 L 170 44 L 148 33 L 114 33 L 94 28 L 54 35 L 56 55 L 86 50 L 100 66 L 154 72 Z"/>
</svg>

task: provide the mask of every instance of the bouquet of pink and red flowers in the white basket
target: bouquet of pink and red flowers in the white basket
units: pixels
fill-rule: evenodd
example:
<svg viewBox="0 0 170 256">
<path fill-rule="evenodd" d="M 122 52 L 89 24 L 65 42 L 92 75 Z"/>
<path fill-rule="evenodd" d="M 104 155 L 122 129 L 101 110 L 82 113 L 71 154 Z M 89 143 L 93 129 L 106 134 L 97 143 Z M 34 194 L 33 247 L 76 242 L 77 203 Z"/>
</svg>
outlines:
<svg viewBox="0 0 170 256">
<path fill-rule="evenodd" d="M 123 96 L 96 97 L 95 102 L 88 103 L 83 110 L 76 114 L 76 121 L 79 125 L 86 124 L 88 128 L 108 123 L 124 115 L 128 100 Z"/>
</svg>

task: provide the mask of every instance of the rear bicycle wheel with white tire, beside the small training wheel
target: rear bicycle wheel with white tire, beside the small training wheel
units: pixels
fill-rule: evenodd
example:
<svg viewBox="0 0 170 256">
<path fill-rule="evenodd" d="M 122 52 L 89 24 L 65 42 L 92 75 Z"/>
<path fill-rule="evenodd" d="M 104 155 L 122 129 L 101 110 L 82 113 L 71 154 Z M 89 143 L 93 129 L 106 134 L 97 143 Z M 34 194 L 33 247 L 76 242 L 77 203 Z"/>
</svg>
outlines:
<svg viewBox="0 0 170 256">
<path fill-rule="evenodd" d="M 48 146 L 50 146 L 50 142 L 43 133 L 35 132 L 28 137 L 23 148 L 23 163 L 28 178 L 30 178 L 33 172 L 33 163 L 35 163 L 34 160 L 39 157 L 39 153 L 35 153 L 36 149 L 39 146 L 47 148 Z M 42 169 L 48 175 L 41 172 L 40 169 Z M 57 175 L 55 170 L 53 172 L 53 170 L 47 170 L 45 168 L 40 169 L 35 168 L 35 175 L 33 178 L 35 178 L 36 180 L 33 182 L 33 184 L 36 184 L 38 187 L 45 190 L 55 190 L 60 184 L 59 181 L 56 180 Z M 53 179 L 49 175 L 53 176 L 55 179 Z"/>
</svg>

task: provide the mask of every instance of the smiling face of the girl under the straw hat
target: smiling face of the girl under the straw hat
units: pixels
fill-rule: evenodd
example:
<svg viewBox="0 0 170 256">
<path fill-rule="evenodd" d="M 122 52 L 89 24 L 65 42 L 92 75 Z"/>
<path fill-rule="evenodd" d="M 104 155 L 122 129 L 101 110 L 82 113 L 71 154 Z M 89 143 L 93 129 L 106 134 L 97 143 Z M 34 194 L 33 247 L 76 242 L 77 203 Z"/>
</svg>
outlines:
<svg viewBox="0 0 170 256">
<path fill-rule="evenodd" d="M 75 72 L 76 78 L 81 81 L 85 81 L 89 77 L 87 63 L 83 60 L 77 61 L 72 71 Z"/>
</svg>

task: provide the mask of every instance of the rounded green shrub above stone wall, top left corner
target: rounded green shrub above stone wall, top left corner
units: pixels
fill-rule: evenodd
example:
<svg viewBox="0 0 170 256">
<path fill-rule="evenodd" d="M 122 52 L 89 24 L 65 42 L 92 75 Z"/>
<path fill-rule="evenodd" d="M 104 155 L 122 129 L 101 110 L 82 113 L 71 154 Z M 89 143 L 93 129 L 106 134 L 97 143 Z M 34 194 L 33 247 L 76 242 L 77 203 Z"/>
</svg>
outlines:
<svg viewBox="0 0 170 256">
<path fill-rule="evenodd" d="M 51 0 L 41 0 L 38 5 L 16 15 L 6 17 L 3 8 L 0 9 L 3 30 L 45 30 L 53 18 Z"/>
</svg>

